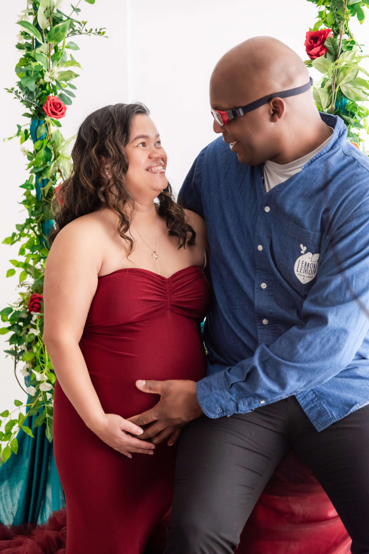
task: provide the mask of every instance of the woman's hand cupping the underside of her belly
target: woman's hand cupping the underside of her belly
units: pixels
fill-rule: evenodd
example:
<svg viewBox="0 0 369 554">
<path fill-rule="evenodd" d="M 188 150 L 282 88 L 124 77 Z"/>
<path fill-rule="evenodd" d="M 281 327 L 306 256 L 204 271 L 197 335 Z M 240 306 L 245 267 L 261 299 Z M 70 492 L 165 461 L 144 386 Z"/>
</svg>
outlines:
<svg viewBox="0 0 369 554">
<path fill-rule="evenodd" d="M 118 414 L 103 414 L 89 427 L 103 442 L 118 450 L 127 458 L 132 458 L 132 453 L 154 454 L 154 444 L 132 437 L 129 434 L 141 435 L 143 433 L 141 427 L 118 416 Z"/>
</svg>

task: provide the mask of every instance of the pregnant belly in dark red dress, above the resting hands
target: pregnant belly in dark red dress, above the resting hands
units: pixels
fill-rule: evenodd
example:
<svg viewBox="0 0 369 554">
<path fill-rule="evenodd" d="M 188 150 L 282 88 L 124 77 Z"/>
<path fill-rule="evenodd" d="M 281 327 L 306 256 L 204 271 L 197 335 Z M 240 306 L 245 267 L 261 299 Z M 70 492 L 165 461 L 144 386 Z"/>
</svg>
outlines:
<svg viewBox="0 0 369 554">
<path fill-rule="evenodd" d="M 84 332 L 80 348 L 91 381 L 106 413 L 124 418 L 144 412 L 159 401 L 158 394 L 141 392 L 137 379 L 191 379 L 205 376 L 204 345 L 199 324 L 167 312 L 136 322 L 108 335 Z"/>
</svg>

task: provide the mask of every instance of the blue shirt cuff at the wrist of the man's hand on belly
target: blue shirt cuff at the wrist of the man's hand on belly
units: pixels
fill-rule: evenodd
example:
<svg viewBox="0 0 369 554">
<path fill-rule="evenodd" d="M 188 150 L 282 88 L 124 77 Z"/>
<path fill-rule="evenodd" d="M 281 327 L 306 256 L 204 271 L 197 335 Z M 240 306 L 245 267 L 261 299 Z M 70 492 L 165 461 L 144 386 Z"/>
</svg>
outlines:
<svg viewBox="0 0 369 554">
<path fill-rule="evenodd" d="M 205 416 L 212 419 L 232 416 L 235 404 L 227 391 L 224 371 L 204 377 L 196 385 L 198 401 Z"/>
</svg>

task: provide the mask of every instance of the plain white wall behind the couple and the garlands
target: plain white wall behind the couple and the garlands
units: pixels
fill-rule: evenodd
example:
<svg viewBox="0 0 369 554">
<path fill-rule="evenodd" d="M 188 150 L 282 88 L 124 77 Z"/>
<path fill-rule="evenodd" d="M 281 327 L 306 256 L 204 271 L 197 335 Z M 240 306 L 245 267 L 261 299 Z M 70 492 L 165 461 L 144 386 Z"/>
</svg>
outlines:
<svg viewBox="0 0 369 554">
<path fill-rule="evenodd" d="M 24 0 L 2 6 L 0 48 L 0 138 L 14 134 L 24 123 L 18 100 L 4 87 L 14 86 L 14 67 L 20 52 L 14 48 L 19 32 L 15 21 L 25 8 Z M 81 2 L 80 18 L 88 27 L 107 27 L 109 38 L 77 37 L 80 50 L 74 53 L 83 71 L 75 81 L 76 99 L 61 120 L 64 137 L 74 135 L 91 111 L 107 104 L 139 100 L 150 109 L 168 152 L 167 175 L 178 191 L 194 158 L 214 139 L 209 109 L 209 78 L 215 63 L 228 49 L 255 35 L 269 35 L 293 48 L 302 59 L 305 33 L 314 24 L 316 7 L 306 0 L 96 0 Z M 65 13 L 69 2 L 64 0 Z M 354 22 L 351 28 L 369 47 L 369 21 Z M 319 76 L 310 70 L 311 76 Z M 18 204 L 19 185 L 27 178 L 26 158 L 17 139 L 0 141 L 0 309 L 17 298 L 18 273 L 6 279 L 8 260 L 17 257 L 19 245 L 1 244 L 22 223 L 26 214 Z M 0 336 L 0 411 L 13 398 L 23 399 L 13 375 L 12 358 Z M 20 377 L 21 379 L 22 377 Z M 22 382 L 22 381 L 21 381 Z"/>
</svg>

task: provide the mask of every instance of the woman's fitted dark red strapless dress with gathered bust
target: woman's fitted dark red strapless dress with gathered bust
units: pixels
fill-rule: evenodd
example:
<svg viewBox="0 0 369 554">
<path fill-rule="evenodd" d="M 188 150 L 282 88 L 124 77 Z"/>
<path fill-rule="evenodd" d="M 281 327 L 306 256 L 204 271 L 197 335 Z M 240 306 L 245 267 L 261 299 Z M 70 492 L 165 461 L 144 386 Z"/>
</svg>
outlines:
<svg viewBox="0 0 369 554">
<path fill-rule="evenodd" d="M 123 418 L 152 408 L 157 394 L 138 378 L 205 375 L 200 320 L 209 284 L 197 266 L 168 279 L 145 269 L 120 269 L 98 279 L 79 346 L 106 413 Z M 66 498 L 66 554 L 141 554 L 168 512 L 175 447 L 132 459 L 86 427 L 58 381 L 54 396 L 54 453 Z"/>
</svg>

